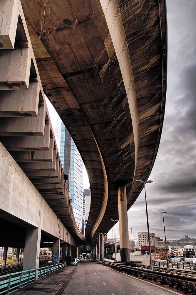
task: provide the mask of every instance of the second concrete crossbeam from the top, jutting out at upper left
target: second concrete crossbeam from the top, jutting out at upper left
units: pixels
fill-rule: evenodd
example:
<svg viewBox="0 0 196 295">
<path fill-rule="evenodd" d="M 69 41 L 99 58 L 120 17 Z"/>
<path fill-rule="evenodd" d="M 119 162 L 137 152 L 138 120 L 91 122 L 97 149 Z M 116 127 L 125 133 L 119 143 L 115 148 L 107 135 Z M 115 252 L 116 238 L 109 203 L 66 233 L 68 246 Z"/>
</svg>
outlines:
<svg viewBox="0 0 196 295">
<path fill-rule="evenodd" d="M 29 48 L 0 50 L 0 90 L 28 89 L 31 68 Z"/>
</svg>

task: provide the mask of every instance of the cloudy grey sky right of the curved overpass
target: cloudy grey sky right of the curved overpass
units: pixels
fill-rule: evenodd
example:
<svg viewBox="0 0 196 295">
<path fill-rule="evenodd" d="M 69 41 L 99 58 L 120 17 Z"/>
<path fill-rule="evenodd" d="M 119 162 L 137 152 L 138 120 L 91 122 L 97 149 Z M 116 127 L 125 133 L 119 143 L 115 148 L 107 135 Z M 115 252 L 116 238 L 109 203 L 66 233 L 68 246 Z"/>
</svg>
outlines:
<svg viewBox="0 0 196 295">
<path fill-rule="evenodd" d="M 179 239 L 186 233 L 196 238 L 195 19 L 195 0 L 167 0 L 165 119 L 158 155 L 149 177 L 153 183 L 146 185 L 150 232 L 164 238 L 162 212 L 167 212 L 164 217 L 167 239 Z M 88 188 L 85 174 L 83 180 L 83 187 Z M 147 231 L 144 191 L 128 211 L 128 222 L 129 227 L 133 227 L 133 238 L 137 238 L 137 232 Z M 108 236 L 112 236 L 112 231 Z M 119 237 L 118 224 L 116 236 Z"/>
</svg>

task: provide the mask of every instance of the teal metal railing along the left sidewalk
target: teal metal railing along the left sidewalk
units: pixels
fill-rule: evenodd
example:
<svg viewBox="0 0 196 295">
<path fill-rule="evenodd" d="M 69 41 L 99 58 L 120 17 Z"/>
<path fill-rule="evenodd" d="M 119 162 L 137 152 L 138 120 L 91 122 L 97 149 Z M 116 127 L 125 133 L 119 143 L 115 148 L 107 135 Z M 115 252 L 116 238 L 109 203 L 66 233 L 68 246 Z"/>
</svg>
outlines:
<svg viewBox="0 0 196 295">
<path fill-rule="evenodd" d="M 65 267 L 65 262 L 0 276 L 0 294 L 9 294 Z"/>
</svg>

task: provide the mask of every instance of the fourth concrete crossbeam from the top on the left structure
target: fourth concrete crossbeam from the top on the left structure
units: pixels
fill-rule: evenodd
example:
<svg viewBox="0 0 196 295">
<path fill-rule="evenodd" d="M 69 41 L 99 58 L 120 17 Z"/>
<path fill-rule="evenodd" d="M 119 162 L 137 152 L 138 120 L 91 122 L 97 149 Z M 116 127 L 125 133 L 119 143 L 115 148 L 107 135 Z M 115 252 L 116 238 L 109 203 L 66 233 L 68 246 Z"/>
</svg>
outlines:
<svg viewBox="0 0 196 295">
<path fill-rule="evenodd" d="M 43 136 L 45 106 L 38 108 L 37 117 L 0 118 L 0 136 Z"/>
</svg>

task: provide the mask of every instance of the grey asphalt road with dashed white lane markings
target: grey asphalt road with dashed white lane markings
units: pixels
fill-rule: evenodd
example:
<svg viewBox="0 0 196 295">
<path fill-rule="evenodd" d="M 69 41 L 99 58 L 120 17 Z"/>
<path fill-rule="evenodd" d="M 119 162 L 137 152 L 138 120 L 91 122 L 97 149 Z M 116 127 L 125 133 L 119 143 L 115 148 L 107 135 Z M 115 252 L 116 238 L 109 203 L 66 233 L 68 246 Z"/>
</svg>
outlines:
<svg viewBox="0 0 196 295">
<path fill-rule="evenodd" d="M 174 295 L 154 284 L 83 259 L 58 295 Z"/>
</svg>

